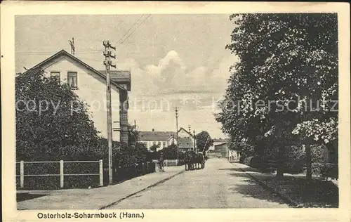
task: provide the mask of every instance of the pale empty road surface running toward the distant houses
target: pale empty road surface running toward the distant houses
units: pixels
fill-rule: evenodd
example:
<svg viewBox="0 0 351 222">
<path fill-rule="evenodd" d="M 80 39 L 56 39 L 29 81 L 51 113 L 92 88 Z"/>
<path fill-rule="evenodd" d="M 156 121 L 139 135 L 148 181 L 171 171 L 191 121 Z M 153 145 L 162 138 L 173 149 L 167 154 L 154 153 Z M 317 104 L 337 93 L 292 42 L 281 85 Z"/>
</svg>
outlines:
<svg viewBox="0 0 351 222">
<path fill-rule="evenodd" d="M 289 205 L 235 168 L 227 159 L 208 159 L 205 169 L 185 171 L 164 183 L 117 202 L 110 209 L 258 207 L 277 208 Z"/>
</svg>

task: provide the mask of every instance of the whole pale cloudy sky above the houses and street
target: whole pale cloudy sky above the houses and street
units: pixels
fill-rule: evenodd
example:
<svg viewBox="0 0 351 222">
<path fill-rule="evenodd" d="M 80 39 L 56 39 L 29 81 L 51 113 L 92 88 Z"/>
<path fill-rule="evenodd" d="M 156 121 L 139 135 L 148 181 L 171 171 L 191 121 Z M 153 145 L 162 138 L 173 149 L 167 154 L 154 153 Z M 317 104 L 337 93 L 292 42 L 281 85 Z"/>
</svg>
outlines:
<svg viewBox="0 0 351 222">
<path fill-rule="evenodd" d="M 178 126 L 225 135 L 216 122 L 236 61 L 225 49 L 234 24 L 227 14 L 17 15 L 15 71 L 23 72 L 54 53 L 70 52 L 104 70 L 102 41 L 117 46 L 117 70 L 131 70 L 130 110 L 142 131 L 176 131 Z"/>
</svg>

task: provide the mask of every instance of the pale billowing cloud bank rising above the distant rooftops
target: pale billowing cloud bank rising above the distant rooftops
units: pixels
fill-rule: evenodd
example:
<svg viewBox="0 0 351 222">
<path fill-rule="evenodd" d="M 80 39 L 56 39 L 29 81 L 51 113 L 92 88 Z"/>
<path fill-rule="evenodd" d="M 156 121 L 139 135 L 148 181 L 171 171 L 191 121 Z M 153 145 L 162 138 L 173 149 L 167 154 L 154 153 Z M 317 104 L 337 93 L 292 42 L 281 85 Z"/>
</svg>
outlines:
<svg viewBox="0 0 351 222">
<path fill-rule="evenodd" d="M 211 129 L 211 136 L 223 137 L 214 114 L 219 112 L 217 102 L 225 92 L 234 62 L 233 56 L 223 56 L 213 66 L 187 70 L 176 51 L 167 53 L 159 65 L 142 67 L 133 59 L 121 61 L 119 69 L 131 69 L 128 118 L 136 119 L 141 130 L 171 131 L 175 127 L 174 107 L 178 106 L 180 126 L 191 124 L 197 131 Z"/>
</svg>

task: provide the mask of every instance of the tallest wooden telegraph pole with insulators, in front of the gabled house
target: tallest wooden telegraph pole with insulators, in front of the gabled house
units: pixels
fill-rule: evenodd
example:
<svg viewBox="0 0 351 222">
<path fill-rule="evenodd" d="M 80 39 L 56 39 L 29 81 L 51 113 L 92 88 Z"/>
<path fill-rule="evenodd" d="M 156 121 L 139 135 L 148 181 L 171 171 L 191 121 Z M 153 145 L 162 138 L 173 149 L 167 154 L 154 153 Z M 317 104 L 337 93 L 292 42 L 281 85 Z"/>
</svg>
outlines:
<svg viewBox="0 0 351 222">
<path fill-rule="evenodd" d="M 112 108 L 111 108 L 111 81 L 110 81 L 110 67 L 116 68 L 116 65 L 112 65 L 110 58 L 116 58 L 116 55 L 112 55 L 110 48 L 116 50 L 110 45 L 110 41 L 103 41 L 105 46 L 105 60 L 104 65 L 106 67 L 106 104 L 107 104 L 107 141 L 109 150 L 109 184 L 113 183 L 112 180 Z"/>
</svg>

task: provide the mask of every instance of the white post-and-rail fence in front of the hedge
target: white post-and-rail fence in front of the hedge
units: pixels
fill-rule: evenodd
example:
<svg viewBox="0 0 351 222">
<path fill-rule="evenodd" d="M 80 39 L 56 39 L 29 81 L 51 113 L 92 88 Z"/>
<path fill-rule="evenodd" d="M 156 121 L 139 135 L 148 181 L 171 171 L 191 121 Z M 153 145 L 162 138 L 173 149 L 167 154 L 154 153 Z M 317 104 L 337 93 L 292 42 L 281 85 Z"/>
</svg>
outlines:
<svg viewBox="0 0 351 222">
<path fill-rule="evenodd" d="M 64 164 L 65 163 L 99 163 L 99 174 L 65 174 L 64 173 Z M 25 164 L 44 164 L 44 163 L 60 163 L 60 174 L 25 174 Z M 65 176 L 100 176 L 100 186 L 103 185 L 103 166 L 102 159 L 95 161 L 34 161 L 34 162 L 26 162 L 20 161 L 16 162 L 16 164 L 20 164 L 20 175 L 16 175 L 20 177 L 20 188 L 25 187 L 25 176 L 60 176 L 60 188 L 63 188 Z"/>
</svg>

